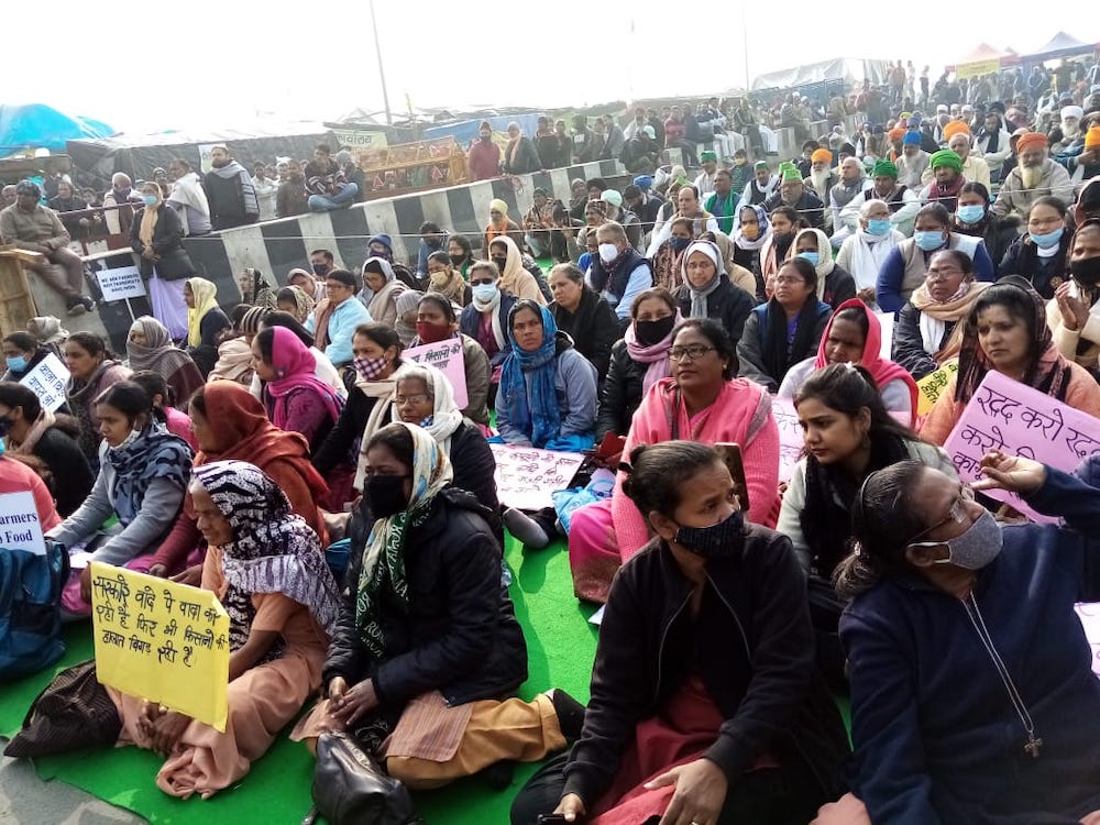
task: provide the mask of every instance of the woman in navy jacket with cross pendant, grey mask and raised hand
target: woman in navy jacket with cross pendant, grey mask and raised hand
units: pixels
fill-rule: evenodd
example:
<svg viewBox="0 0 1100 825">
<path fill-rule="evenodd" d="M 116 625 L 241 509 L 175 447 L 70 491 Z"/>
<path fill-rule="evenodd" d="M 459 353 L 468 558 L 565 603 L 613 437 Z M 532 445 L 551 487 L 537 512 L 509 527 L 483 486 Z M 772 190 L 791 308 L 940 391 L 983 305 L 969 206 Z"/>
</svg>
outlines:
<svg viewBox="0 0 1100 825">
<path fill-rule="evenodd" d="M 817 825 L 1100 816 L 1100 682 L 1074 610 L 1100 601 L 1100 490 L 999 452 L 982 472 L 975 488 L 1021 494 L 1066 527 L 999 526 L 970 487 L 917 461 L 856 496 L 859 552 L 837 576 L 853 600 L 840 638 L 855 795 Z"/>
</svg>

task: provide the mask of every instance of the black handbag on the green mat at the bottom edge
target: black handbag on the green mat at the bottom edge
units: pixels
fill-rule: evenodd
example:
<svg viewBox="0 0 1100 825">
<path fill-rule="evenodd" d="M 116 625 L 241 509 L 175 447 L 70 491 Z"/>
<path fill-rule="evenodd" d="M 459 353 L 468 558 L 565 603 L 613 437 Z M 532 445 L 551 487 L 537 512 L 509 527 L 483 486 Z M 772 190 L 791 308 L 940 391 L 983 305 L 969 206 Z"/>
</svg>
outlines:
<svg viewBox="0 0 1100 825">
<path fill-rule="evenodd" d="M 323 733 L 318 737 L 312 793 L 317 813 L 329 825 L 422 822 L 408 789 L 388 776 L 346 733 Z"/>
</svg>

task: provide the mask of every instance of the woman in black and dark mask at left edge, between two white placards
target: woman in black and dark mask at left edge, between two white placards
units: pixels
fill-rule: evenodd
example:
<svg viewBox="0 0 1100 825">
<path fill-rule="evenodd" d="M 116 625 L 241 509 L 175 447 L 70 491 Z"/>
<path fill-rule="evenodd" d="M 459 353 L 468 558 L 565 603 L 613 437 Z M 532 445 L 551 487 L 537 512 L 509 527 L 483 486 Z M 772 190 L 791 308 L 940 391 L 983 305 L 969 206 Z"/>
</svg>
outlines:
<svg viewBox="0 0 1100 825">
<path fill-rule="evenodd" d="M 65 415 L 42 406 L 33 392 L 12 381 L 0 382 L 0 430 L 9 455 L 34 455 L 54 477 L 54 497 L 62 518 L 70 516 L 96 481 L 76 442 L 79 428 Z"/>
</svg>

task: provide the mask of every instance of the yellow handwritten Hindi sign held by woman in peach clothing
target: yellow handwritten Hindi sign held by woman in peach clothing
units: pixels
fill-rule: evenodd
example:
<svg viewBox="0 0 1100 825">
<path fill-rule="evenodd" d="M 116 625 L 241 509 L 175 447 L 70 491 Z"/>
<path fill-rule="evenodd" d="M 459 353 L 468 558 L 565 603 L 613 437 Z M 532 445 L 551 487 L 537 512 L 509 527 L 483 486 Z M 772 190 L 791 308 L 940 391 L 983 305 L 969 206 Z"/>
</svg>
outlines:
<svg viewBox="0 0 1100 825">
<path fill-rule="evenodd" d="M 229 614 L 213 593 L 94 561 L 100 682 L 226 730 Z"/>
</svg>

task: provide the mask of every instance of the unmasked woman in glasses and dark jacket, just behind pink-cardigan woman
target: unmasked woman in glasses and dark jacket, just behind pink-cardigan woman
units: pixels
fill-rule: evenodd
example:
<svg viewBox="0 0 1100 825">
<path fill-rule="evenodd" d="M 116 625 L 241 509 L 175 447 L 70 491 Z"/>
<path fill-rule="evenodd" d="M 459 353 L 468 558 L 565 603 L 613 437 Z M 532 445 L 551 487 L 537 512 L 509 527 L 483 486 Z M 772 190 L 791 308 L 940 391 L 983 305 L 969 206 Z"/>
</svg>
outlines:
<svg viewBox="0 0 1100 825">
<path fill-rule="evenodd" d="M 779 267 L 776 294 L 749 312 L 737 342 L 740 376 L 779 391 L 787 371 L 821 346 L 833 308 L 817 298 L 817 270 L 804 257 Z"/>
</svg>

